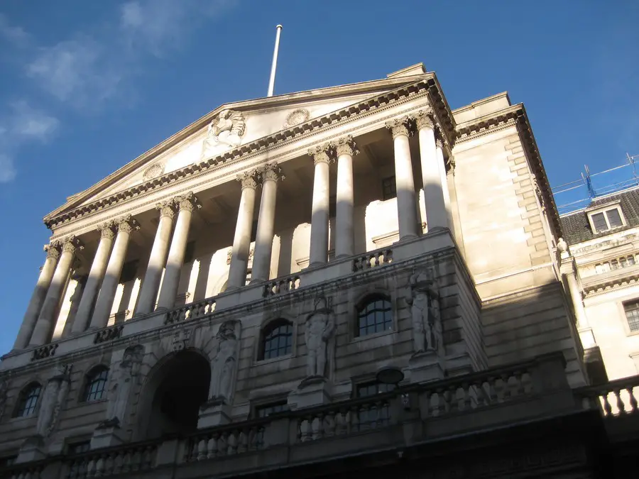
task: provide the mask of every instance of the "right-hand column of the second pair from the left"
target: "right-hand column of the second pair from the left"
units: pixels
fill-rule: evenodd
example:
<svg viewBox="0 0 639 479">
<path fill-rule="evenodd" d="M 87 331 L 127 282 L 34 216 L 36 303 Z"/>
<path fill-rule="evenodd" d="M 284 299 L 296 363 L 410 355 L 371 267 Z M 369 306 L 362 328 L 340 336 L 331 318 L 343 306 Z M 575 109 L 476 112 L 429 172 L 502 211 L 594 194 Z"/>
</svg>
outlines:
<svg viewBox="0 0 639 479">
<path fill-rule="evenodd" d="M 120 275 L 122 274 L 122 266 L 124 266 L 124 260 L 126 259 L 126 250 L 129 248 L 131 231 L 139 229 L 137 221 L 131 215 L 124 216 L 124 218 L 117 220 L 116 223 L 118 233 L 109 256 L 107 271 L 95 302 L 90 328 L 104 328 L 109 322 L 113 300 L 118 289 Z"/>
</svg>

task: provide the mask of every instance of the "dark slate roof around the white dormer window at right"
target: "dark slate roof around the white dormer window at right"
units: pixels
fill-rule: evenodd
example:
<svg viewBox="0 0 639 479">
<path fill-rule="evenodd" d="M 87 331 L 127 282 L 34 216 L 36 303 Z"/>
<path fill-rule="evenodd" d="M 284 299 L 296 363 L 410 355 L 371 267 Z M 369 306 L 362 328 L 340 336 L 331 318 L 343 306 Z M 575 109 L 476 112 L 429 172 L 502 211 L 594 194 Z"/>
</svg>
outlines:
<svg viewBox="0 0 639 479">
<path fill-rule="evenodd" d="M 594 233 L 590 227 L 586 211 L 617 201 L 626 219 L 626 226 Z M 582 241 L 589 241 L 594 238 L 603 238 L 603 236 L 608 236 L 618 231 L 635 228 L 639 226 L 639 187 L 628 188 L 615 194 L 595 198 L 587 208 L 562 215 L 559 219 L 562 222 L 564 240 L 566 240 L 568 244 L 581 243 Z"/>
</svg>

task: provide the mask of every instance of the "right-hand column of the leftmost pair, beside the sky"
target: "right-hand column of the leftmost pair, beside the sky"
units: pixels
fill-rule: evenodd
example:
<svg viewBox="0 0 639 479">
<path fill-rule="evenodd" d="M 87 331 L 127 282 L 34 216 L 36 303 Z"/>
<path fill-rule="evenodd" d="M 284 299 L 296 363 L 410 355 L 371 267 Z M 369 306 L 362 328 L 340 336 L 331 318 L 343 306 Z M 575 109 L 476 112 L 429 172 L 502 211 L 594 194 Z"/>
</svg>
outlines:
<svg viewBox="0 0 639 479">
<path fill-rule="evenodd" d="M 58 265 L 55 267 L 53 278 L 38 315 L 38 321 L 36 321 L 31 335 L 31 341 L 29 341 L 29 346 L 42 346 L 51 338 L 62 290 L 67 284 L 67 277 L 69 276 L 77 248 L 82 248 L 82 246 L 75 236 L 67 239 L 62 244 L 62 254 L 60 255 L 60 260 L 58 260 Z"/>
</svg>

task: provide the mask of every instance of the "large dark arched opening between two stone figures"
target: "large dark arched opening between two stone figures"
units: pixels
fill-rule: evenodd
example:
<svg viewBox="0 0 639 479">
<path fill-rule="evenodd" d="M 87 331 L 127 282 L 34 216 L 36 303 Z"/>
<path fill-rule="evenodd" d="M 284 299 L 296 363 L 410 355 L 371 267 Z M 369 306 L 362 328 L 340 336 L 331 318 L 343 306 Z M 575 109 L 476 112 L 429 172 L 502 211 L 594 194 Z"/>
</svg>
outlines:
<svg viewBox="0 0 639 479">
<path fill-rule="evenodd" d="M 143 390 L 138 439 L 195 431 L 210 381 L 209 362 L 197 351 L 180 351 L 168 358 L 150 375 Z"/>
</svg>

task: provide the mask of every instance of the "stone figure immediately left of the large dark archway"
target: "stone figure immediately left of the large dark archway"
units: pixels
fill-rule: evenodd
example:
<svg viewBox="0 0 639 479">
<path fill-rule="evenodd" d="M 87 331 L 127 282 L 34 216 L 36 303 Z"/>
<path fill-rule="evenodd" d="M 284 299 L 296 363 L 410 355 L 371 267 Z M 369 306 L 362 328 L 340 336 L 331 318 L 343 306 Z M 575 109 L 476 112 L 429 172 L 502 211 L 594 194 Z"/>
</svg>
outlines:
<svg viewBox="0 0 639 479">
<path fill-rule="evenodd" d="M 141 344 L 124 350 L 124 356 L 118 368 L 114 370 L 109 384 L 107 420 L 100 423 L 99 428 L 119 427 L 124 423 L 131 387 L 138 378 L 143 357 L 144 346 Z"/>
</svg>

